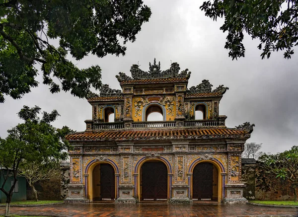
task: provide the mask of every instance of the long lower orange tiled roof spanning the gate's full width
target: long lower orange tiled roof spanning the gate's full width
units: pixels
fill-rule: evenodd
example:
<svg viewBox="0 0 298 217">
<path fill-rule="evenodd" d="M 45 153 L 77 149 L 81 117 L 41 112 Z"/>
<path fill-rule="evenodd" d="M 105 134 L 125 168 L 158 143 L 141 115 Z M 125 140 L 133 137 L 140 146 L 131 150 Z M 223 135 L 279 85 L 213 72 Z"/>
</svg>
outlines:
<svg viewBox="0 0 298 217">
<path fill-rule="evenodd" d="M 168 139 L 220 139 L 249 138 L 243 130 L 229 128 L 184 129 L 184 130 L 141 130 L 141 131 L 94 131 L 67 135 L 69 141 L 125 141 L 125 140 L 168 140 Z"/>
</svg>

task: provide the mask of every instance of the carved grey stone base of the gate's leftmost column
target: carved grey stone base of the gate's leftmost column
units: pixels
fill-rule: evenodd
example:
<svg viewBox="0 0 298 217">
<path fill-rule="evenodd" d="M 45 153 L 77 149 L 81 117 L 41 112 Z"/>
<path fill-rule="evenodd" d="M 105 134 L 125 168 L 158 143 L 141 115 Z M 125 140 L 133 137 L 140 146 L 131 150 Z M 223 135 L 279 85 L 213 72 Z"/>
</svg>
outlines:
<svg viewBox="0 0 298 217">
<path fill-rule="evenodd" d="M 89 200 L 84 196 L 85 186 L 82 184 L 69 184 L 69 196 L 64 200 L 65 203 L 89 203 Z"/>
</svg>

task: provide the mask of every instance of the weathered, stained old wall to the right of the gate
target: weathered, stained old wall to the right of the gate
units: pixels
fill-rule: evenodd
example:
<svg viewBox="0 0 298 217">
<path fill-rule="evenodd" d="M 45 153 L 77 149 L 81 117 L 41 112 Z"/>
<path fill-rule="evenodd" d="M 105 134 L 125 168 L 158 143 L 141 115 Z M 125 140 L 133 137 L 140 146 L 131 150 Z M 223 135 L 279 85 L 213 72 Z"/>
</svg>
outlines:
<svg viewBox="0 0 298 217">
<path fill-rule="evenodd" d="M 287 201 L 294 200 L 294 190 L 287 179 L 268 174 L 260 163 L 242 163 L 242 181 L 246 184 L 243 197 L 247 200 Z M 298 192 L 298 188 L 297 188 Z"/>
</svg>

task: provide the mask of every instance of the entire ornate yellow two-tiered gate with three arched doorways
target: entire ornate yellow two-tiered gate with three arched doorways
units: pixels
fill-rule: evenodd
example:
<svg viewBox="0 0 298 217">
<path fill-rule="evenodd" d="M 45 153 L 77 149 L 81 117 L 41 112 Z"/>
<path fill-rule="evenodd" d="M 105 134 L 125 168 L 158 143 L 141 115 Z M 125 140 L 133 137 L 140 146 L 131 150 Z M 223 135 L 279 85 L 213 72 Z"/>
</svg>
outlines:
<svg viewBox="0 0 298 217">
<path fill-rule="evenodd" d="M 212 90 L 203 80 L 187 88 L 190 73 L 173 63 L 149 72 L 131 67 L 132 77 L 116 77 L 122 90 L 103 85 L 90 93 L 92 120 L 68 135 L 68 202 L 115 199 L 116 203 L 211 200 L 245 203 L 241 153 L 253 126 L 225 126 L 219 104 L 228 89 Z M 151 114 L 161 121 L 149 121 Z M 198 117 L 200 113 L 200 117 Z"/>
</svg>

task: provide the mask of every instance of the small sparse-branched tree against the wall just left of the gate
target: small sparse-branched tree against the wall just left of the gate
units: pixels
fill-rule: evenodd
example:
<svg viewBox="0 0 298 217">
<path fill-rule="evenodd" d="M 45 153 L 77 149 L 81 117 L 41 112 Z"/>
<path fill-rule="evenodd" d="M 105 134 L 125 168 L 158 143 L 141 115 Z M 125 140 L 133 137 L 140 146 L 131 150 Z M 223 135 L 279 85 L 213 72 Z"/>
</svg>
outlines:
<svg viewBox="0 0 298 217">
<path fill-rule="evenodd" d="M 38 201 L 37 191 L 34 184 L 37 181 L 45 179 L 59 179 L 61 178 L 61 168 L 59 163 L 23 163 L 20 166 L 19 175 L 27 179 L 29 186 L 34 193 L 35 201 Z"/>
</svg>

